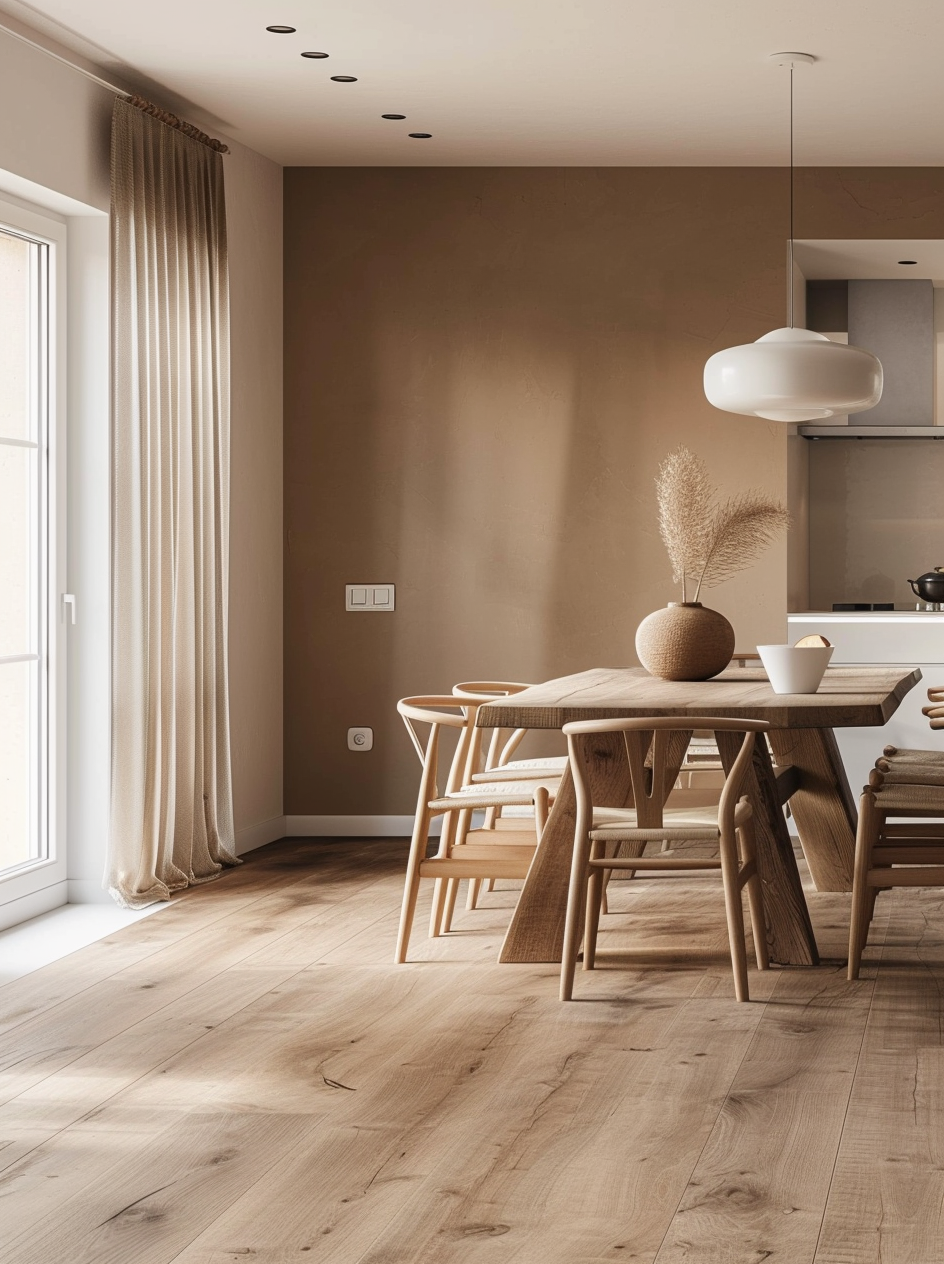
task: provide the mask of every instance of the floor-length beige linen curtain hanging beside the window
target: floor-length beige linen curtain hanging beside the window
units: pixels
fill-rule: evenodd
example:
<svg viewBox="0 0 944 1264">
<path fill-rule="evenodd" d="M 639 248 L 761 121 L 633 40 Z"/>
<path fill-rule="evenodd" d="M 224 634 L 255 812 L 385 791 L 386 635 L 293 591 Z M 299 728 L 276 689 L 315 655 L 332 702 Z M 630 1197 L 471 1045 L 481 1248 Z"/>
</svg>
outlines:
<svg viewBox="0 0 944 1264">
<path fill-rule="evenodd" d="M 126 908 L 234 865 L 229 282 L 219 153 L 115 101 L 112 780 Z"/>
</svg>

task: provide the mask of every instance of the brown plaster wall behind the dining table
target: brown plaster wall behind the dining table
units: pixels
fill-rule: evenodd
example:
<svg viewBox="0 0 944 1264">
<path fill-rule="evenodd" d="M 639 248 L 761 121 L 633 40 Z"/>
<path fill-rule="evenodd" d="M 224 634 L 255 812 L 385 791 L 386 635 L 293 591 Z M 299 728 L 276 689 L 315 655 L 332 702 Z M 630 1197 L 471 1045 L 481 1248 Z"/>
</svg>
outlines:
<svg viewBox="0 0 944 1264">
<path fill-rule="evenodd" d="M 671 447 L 786 497 L 786 427 L 701 391 L 784 324 L 786 173 L 289 168 L 284 193 L 286 811 L 408 813 L 397 698 L 636 662 L 675 597 Z M 797 236 L 944 236 L 944 171 L 800 172 Z M 372 580 L 396 614 L 346 614 Z M 786 593 L 784 544 L 709 600 L 749 648 Z"/>
</svg>

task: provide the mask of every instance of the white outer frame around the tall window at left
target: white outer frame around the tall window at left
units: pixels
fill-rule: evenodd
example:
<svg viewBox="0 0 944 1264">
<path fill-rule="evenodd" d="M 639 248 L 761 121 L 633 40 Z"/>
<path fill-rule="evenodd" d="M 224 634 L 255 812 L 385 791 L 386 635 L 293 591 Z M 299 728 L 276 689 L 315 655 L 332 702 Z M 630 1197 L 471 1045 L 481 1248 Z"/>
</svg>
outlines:
<svg viewBox="0 0 944 1264">
<path fill-rule="evenodd" d="M 62 594 L 67 592 L 67 432 L 66 432 L 66 220 L 49 211 L 33 210 L 0 196 L 0 229 L 40 241 L 48 246 L 48 334 L 45 365 L 47 442 L 40 460 L 47 461 L 45 531 L 45 695 L 44 729 L 47 755 L 45 842 L 47 854 L 0 876 L 0 910 L 10 911 L 15 901 L 28 901 L 38 892 L 62 884 L 64 902 L 66 785 L 67 785 L 67 624 L 63 622 Z M 40 664 L 42 671 L 42 664 Z M 48 902 L 48 901 L 44 901 Z M 25 911 L 25 910 L 24 910 Z M 16 919 L 19 920 L 19 919 Z M 6 923 L 8 918 L 4 916 Z"/>
</svg>

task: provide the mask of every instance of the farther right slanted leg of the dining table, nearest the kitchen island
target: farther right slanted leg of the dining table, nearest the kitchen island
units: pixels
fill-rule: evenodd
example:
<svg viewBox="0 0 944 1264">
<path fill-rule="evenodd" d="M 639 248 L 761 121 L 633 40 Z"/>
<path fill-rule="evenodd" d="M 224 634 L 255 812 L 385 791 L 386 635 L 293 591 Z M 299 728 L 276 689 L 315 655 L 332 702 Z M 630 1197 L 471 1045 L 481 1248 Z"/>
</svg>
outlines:
<svg viewBox="0 0 944 1264">
<path fill-rule="evenodd" d="M 772 729 L 778 765 L 791 763 L 800 785 L 790 810 L 818 891 L 852 891 L 856 801 L 832 728 Z"/>
</svg>

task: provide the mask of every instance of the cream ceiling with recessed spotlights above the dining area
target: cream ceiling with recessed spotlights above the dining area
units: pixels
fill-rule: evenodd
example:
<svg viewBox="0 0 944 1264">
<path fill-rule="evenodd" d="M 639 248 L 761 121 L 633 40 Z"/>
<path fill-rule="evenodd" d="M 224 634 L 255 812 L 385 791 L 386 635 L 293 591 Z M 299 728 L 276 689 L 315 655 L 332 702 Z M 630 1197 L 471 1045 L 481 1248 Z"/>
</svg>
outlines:
<svg viewBox="0 0 944 1264">
<path fill-rule="evenodd" d="M 940 0 L 0 8 L 288 166 L 781 164 L 787 76 L 767 54 L 785 48 L 820 58 L 796 72 L 799 164 L 944 164 Z"/>
</svg>

